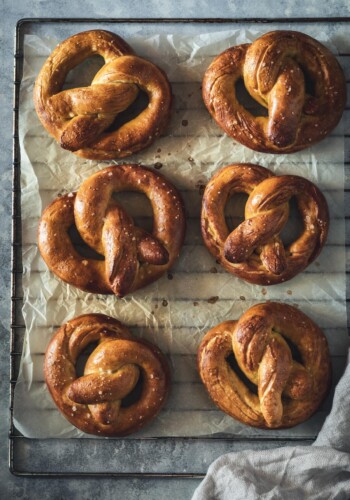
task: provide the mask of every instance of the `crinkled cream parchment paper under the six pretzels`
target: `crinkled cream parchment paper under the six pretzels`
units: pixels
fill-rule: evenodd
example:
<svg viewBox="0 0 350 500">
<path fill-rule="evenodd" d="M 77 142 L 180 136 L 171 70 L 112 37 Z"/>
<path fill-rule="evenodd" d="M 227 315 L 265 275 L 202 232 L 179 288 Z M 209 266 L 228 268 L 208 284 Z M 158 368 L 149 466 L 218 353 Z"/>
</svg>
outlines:
<svg viewBox="0 0 350 500">
<path fill-rule="evenodd" d="M 73 34 L 73 32 L 72 32 Z M 15 389 L 14 419 L 27 437 L 88 437 L 56 409 L 43 381 L 44 352 L 55 330 L 84 313 L 118 318 L 138 337 L 156 343 L 167 354 L 172 386 L 169 400 L 154 422 L 137 436 L 197 436 L 230 433 L 240 436 L 309 437 L 318 432 L 330 398 L 308 422 L 291 430 L 262 431 L 236 422 L 211 402 L 196 371 L 196 350 L 215 324 L 238 318 L 264 300 L 299 306 L 327 335 L 334 382 L 345 363 L 347 347 L 344 248 L 344 139 L 341 125 L 319 145 L 292 155 L 251 151 L 228 138 L 211 119 L 201 98 L 205 69 L 227 47 L 254 40 L 262 32 L 227 31 L 195 36 L 133 36 L 127 41 L 140 55 L 162 67 L 172 83 L 175 104 L 171 123 L 159 140 L 126 162 L 160 169 L 181 191 L 188 224 L 185 245 L 171 273 L 124 299 L 93 295 L 71 287 L 46 267 L 37 248 L 42 210 L 59 194 L 75 191 L 95 171 L 113 163 L 79 159 L 62 150 L 36 117 L 33 84 L 58 40 L 27 35 L 20 96 L 20 145 L 23 237 L 23 317 L 25 340 Z M 329 41 L 318 36 L 320 41 Z M 94 58 L 71 72 L 67 87 L 88 84 Z M 331 214 L 327 246 L 307 271 L 269 288 L 253 286 L 226 273 L 203 246 L 199 215 L 203 186 L 220 167 L 253 162 L 277 174 L 297 174 L 323 190 Z M 122 163 L 122 162 L 119 162 Z M 131 193 L 120 198 L 136 222 L 151 221 L 150 206 Z M 239 201 L 230 203 L 229 212 Z M 232 217 L 232 223 L 237 222 Z"/>
</svg>

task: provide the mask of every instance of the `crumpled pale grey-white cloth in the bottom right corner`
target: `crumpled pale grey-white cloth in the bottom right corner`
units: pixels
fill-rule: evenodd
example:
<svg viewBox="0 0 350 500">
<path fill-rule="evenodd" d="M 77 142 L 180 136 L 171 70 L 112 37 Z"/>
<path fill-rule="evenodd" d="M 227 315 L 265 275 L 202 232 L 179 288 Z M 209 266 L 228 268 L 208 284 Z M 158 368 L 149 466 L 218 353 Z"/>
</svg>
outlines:
<svg viewBox="0 0 350 500">
<path fill-rule="evenodd" d="M 350 364 L 312 446 L 229 453 L 211 464 L 192 500 L 350 498 Z"/>
</svg>

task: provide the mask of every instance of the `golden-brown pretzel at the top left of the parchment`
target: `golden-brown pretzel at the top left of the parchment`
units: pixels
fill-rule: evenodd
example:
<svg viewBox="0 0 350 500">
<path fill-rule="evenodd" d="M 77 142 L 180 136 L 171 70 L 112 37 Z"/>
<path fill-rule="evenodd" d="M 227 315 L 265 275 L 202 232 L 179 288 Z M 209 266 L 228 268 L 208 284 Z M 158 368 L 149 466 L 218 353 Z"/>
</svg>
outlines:
<svg viewBox="0 0 350 500">
<path fill-rule="evenodd" d="M 68 72 L 99 54 L 105 64 L 89 87 L 62 90 Z M 149 104 L 136 118 L 109 131 L 116 116 L 136 99 Z M 157 66 L 134 55 L 119 36 L 103 30 L 78 33 L 60 43 L 34 87 L 39 119 L 62 148 L 95 160 L 123 158 L 151 144 L 170 117 L 171 87 Z"/>
</svg>

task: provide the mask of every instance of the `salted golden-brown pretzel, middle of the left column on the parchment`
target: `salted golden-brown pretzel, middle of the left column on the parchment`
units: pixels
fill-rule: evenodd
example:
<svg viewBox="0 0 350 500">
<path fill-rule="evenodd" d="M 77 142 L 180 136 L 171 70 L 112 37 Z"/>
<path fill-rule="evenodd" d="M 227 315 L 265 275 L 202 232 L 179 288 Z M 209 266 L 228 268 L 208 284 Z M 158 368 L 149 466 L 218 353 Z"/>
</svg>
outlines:
<svg viewBox="0 0 350 500">
<path fill-rule="evenodd" d="M 112 197 L 139 191 L 150 200 L 152 234 L 134 225 Z M 80 255 L 69 229 L 76 225 L 87 245 L 104 260 Z M 115 165 L 83 182 L 77 193 L 54 200 L 38 231 L 39 250 L 50 270 L 81 290 L 119 297 L 158 279 L 169 269 L 183 243 L 185 213 L 179 192 L 159 173 L 140 165 Z"/>
</svg>

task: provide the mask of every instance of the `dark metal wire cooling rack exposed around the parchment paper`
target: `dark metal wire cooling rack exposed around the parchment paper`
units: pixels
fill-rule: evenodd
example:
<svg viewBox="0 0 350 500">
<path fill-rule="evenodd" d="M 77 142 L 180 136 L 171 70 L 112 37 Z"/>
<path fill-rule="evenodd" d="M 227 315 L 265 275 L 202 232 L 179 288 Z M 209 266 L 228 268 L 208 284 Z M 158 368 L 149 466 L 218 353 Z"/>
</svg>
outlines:
<svg viewBox="0 0 350 500">
<path fill-rule="evenodd" d="M 22 78 L 23 65 L 23 37 L 24 33 L 33 25 L 45 24 L 74 24 L 77 27 L 82 24 L 177 24 L 177 25 L 199 25 L 203 27 L 208 23 L 225 24 L 228 27 L 245 24 L 250 26 L 261 26 L 263 24 L 291 26 L 298 28 L 303 23 L 319 24 L 346 24 L 349 26 L 350 18 L 299 18 L 299 19 L 23 19 L 18 22 L 15 35 L 14 54 L 14 109 L 13 109 L 13 203 L 12 203 L 12 283 L 11 283 L 11 364 L 10 364 L 10 431 L 9 431 L 9 467 L 13 474 L 22 476 L 98 476 L 98 477 L 203 477 L 208 463 L 194 462 L 195 456 L 200 456 L 203 450 L 211 448 L 211 460 L 222 453 L 244 448 L 261 448 L 262 443 L 254 438 L 233 439 L 227 436 L 214 438 L 129 438 L 129 439 L 65 439 L 65 440 L 31 440 L 22 436 L 14 426 L 13 403 L 14 388 L 18 377 L 20 357 L 22 353 L 24 323 L 21 312 L 22 306 L 22 238 L 21 238 L 21 151 L 19 145 L 18 121 L 19 121 L 19 95 Z M 347 73 L 350 74 L 350 51 L 339 54 L 346 64 Z M 349 84 L 349 79 L 347 79 Z M 347 104 L 345 111 L 345 123 L 350 117 L 350 107 Z M 345 134 L 345 169 L 346 177 L 350 179 L 350 135 Z M 346 183 L 345 196 L 348 199 L 349 182 Z M 349 205 L 346 203 L 345 206 Z M 350 212 L 346 211 L 346 219 Z M 349 244 L 347 234 L 346 244 Z M 347 282 L 348 282 L 347 273 Z M 348 300 L 347 300 L 348 302 Z M 310 444 L 312 438 L 307 439 L 265 439 L 264 447 L 283 446 L 295 443 Z M 177 447 L 181 444 L 180 447 Z M 115 453 L 116 448 L 125 448 L 129 459 L 127 464 L 121 464 L 120 468 L 108 467 L 108 459 Z M 180 451 L 179 451 L 180 450 Z M 186 456 L 183 456 L 185 452 Z M 89 463 L 86 466 L 86 456 L 94 453 L 101 463 L 96 466 Z M 173 469 L 161 465 L 161 454 L 173 456 Z M 75 467 L 72 469 L 65 466 L 65 456 L 75 457 Z M 58 459 L 58 456 L 61 458 Z M 81 460 L 84 456 L 85 459 Z M 139 466 L 138 470 L 133 466 L 135 460 L 142 457 L 142 462 L 148 464 L 145 470 Z M 117 460 L 119 460 L 117 456 Z M 158 462 L 157 462 L 158 460 Z M 175 465 L 177 464 L 177 465 Z M 175 470 L 176 469 L 176 470 Z"/>
</svg>

